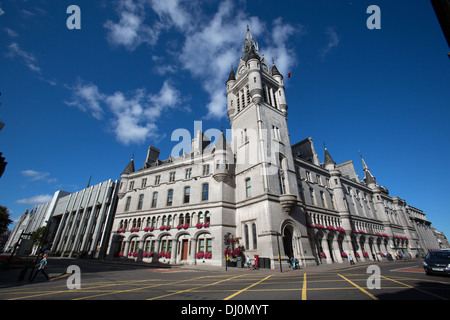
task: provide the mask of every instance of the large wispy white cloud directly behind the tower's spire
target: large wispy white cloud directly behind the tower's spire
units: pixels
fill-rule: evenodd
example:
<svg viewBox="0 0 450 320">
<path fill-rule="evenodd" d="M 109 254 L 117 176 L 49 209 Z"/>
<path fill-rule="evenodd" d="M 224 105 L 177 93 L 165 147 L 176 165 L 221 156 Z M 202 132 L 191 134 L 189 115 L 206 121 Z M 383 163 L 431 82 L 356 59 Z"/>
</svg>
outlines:
<svg viewBox="0 0 450 320">
<path fill-rule="evenodd" d="M 247 25 L 254 36 L 268 36 L 264 39 L 266 47 L 260 47 L 260 51 L 269 63 L 275 59 L 280 72 L 289 72 L 295 64 L 295 52 L 288 43 L 291 36 L 302 32 L 301 26 L 292 26 L 278 18 L 267 30 L 258 17 L 249 16 L 233 1 L 221 1 L 212 17 L 207 17 L 199 4 L 190 1 L 119 0 L 116 3 L 119 22 L 109 20 L 104 24 L 110 43 L 134 50 L 142 43 L 155 45 L 161 33 L 169 29 L 183 37 L 181 52 L 172 52 L 176 62 L 163 64 L 160 57 L 153 55 L 151 58 L 160 62 L 154 70 L 165 75 L 181 67 L 196 77 L 209 95 L 206 118 L 220 119 L 226 115 L 224 83 L 231 64 L 236 66 L 239 62 Z M 152 19 L 147 19 L 150 16 Z"/>
</svg>

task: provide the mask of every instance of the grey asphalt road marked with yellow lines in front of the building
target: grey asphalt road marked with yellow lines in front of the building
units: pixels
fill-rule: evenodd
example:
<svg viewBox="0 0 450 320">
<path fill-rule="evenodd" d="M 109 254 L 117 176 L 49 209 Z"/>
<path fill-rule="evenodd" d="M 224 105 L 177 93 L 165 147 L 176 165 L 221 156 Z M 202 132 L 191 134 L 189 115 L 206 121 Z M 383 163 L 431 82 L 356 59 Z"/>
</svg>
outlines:
<svg viewBox="0 0 450 320">
<path fill-rule="evenodd" d="M 232 303 L 228 305 L 230 313 L 239 312 L 231 306 L 242 301 L 245 307 L 241 311 L 254 314 L 264 308 L 270 312 L 270 306 L 278 305 L 276 301 L 450 299 L 450 277 L 425 275 L 420 260 L 375 266 L 375 271 L 368 270 L 368 265 L 357 265 L 321 272 L 311 268 L 281 273 L 235 268 L 227 271 L 147 268 L 80 261 L 79 278 L 66 274 L 46 281 L 38 275 L 33 283 L 24 281 L 0 287 L 0 299 L 176 300 L 173 311 L 180 314 L 199 312 L 192 308 L 212 306 L 211 301 L 219 300 L 222 302 L 214 306 L 221 306 L 223 313 L 227 312 L 225 303 Z M 266 305 L 269 307 L 263 307 Z"/>
</svg>

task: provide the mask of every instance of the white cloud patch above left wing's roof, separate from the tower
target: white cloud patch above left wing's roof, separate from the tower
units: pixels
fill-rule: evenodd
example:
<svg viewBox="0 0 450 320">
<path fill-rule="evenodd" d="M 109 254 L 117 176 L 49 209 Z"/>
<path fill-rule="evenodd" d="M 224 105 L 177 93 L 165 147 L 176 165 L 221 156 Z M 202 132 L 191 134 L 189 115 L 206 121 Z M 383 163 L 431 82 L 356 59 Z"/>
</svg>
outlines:
<svg viewBox="0 0 450 320">
<path fill-rule="evenodd" d="M 157 122 L 163 110 L 177 107 L 182 102 L 180 92 L 169 81 L 163 83 L 158 93 L 138 89 L 129 97 L 121 91 L 101 93 L 96 85 L 81 82 L 71 90 L 73 101 L 66 103 L 91 112 L 94 117 L 101 114 L 96 117 L 98 120 L 107 118 L 109 130 L 125 145 L 159 139 Z"/>
</svg>

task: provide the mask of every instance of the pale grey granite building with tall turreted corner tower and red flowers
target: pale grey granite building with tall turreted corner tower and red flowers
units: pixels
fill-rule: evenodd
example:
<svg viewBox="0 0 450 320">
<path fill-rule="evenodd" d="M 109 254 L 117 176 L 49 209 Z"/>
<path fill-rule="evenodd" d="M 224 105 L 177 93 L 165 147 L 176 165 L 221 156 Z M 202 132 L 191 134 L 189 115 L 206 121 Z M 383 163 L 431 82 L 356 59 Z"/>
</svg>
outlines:
<svg viewBox="0 0 450 320">
<path fill-rule="evenodd" d="M 291 145 L 283 76 L 247 30 L 226 82 L 231 130 L 196 132 L 190 150 L 161 161 L 150 147 L 121 175 L 110 255 L 224 265 L 249 256 L 278 268 L 438 249 L 423 212 L 389 195 L 361 157 L 336 164 L 311 138 Z M 281 265 L 281 264 L 280 264 Z"/>
</svg>

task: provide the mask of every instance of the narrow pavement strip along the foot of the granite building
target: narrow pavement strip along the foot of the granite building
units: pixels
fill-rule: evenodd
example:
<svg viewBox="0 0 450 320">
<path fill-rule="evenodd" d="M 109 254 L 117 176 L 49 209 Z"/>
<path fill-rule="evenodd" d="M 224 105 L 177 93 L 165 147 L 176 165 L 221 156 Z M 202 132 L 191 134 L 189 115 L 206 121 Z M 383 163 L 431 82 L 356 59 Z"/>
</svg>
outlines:
<svg viewBox="0 0 450 320">
<path fill-rule="evenodd" d="M 29 259 L 29 261 L 33 261 L 33 259 Z M 4 260 L 3 260 L 4 261 Z M 185 269 L 185 270 L 195 270 L 195 271 L 207 271 L 207 272 L 225 272 L 228 273 L 242 273 L 242 272 L 258 272 L 258 273 L 316 273 L 316 272 L 330 272 L 333 270 L 344 270 L 344 269 L 352 269 L 358 267 L 364 267 L 373 264 L 392 264 L 394 262 L 412 262 L 417 261 L 421 264 L 422 259 L 407 259 L 407 260 L 394 260 L 394 261 L 361 261 L 356 262 L 355 265 L 351 266 L 350 263 L 333 263 L 333 264 L 320 264 L 313 266 L 306 266 L 301 269 L 286 268 L 283 266 L 282 270 L 278 269 L 257 269 L 257 270 L 249 270 L 248 268 L 236 268 L 236 267 L 227 267 L 225 269 L 224 266 L 211 266 L 205 264 L 199 265 L 167 265 L 163 263 L 145 263 L 145 262 L 135 262 L 131 259 L 115 259 L 115 260 L 96 260 L 96 259 L 69 259 L 69 258 L 59 258 L 59 257 L 49 257 L 48 265 L 46 266 L 46 272 L 50 276 L 50 281 L 61 278 L 63 276 L 67 276 L 67 267 L 70 265 L 78 265 L 81 268 L 84 264 L 89 264 L 91 267 L 95 266 L 98 270 L 98 267 L 103 265 L 105 267 L 105 271 L 107 271 L 108 267 L 120 266 L 121 268 L 126 268 L 127 266 L 132 268 L 172 268 L 172 269 Z M 94 265 L 95 264 L 95 265 Z M 103 267 L 100 267 L 103 268 Z M 34 269 L 36 271 L 36 269 Z M 21 286 L 28 283 L 29 276 L 31 274 L 31 268 L 27 268 L 26 270 L 23 267 L 16 266 L 14 268 L 0 268 L 0 288 L 11 287 L 11 286 Z M 46 281 L 42 274 L 38 274 L 34 282 L 42 282 Z"/>
</svg>

